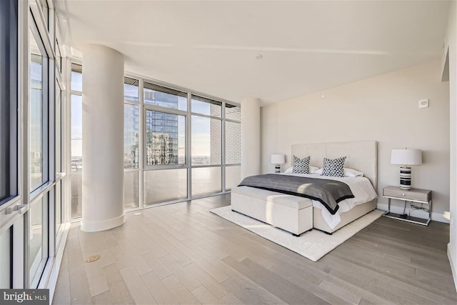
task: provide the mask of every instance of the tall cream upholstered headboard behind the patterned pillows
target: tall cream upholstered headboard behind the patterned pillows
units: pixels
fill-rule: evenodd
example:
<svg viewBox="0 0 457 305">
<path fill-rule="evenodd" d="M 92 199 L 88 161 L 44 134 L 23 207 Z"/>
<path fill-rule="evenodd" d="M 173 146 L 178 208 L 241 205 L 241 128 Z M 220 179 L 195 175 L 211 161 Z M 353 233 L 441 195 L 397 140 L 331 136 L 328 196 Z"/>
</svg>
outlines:
<svg viewBox="0 0 457 305">
<path fill-rule="evenodd" d="M 376 141 L 334 142 L 292 145 L 292 156 L 304 158 L 311 156 L 312 166 L 322 167 L 322 159 L 336 159 L 346 156 L 344 167 L 363 172 L 373 184 L 378 186 L 378 145 Z M 293 163 L 291 157 L 291 163 Z"/>
</svg>

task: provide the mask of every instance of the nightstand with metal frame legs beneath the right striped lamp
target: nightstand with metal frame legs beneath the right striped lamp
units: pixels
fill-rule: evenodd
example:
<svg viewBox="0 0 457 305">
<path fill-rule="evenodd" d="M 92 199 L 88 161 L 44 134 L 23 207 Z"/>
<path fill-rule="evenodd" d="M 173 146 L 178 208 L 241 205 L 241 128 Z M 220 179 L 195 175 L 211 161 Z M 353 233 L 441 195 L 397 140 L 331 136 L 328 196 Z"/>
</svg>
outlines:
<svg viewBox="0 0 457 305">
<path fill-rule="evenodd" d="M 386 186 L 383 189 L 383 197 L 388 198 L 388 211 L 383 216 L 388 218 L 422 224 L 428 226 L 431 221 L 431 191 L 427 189 L 400 189 L 398 186 Z M 428 219 L 421 219 L 409 215 L 391 213 L 391 199 L 416 202 L 418 204 L 428 204 Z"/>
</svg>

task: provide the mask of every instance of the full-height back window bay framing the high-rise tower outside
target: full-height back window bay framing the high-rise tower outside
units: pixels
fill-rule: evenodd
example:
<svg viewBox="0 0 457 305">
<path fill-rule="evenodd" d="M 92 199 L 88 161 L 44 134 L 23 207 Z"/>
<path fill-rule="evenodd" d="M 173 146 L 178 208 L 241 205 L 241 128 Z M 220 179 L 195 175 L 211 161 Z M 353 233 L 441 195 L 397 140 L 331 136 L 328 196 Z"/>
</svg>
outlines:
<svg viewBox="0 0 457 305">
<path fill-rule="evenodd" d="M 144 205 L 188 197 L 187 93 L 144 82 Z"/>
</svg>

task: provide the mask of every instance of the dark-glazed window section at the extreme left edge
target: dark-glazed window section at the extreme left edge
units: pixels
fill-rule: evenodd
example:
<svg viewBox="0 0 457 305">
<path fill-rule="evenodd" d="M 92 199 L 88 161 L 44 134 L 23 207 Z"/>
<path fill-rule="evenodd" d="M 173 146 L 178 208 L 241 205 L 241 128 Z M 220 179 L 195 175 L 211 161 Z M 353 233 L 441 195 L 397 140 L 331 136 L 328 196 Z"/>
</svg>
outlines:
<svg viewBox="0 0 457 305">
<path fill-rule="evenodd" d="M 13 259 L 24 261 L 24 219 L 6 209 L 21 204 L 19 189 L 18 100 L 18 1 L 0 1 L 0 288 L 24 282 L 23 269 Z M 16 237 L 16 238 L 15 238 Z M 19 275 L 15 275 L 14 273 Z"/>
</svg>

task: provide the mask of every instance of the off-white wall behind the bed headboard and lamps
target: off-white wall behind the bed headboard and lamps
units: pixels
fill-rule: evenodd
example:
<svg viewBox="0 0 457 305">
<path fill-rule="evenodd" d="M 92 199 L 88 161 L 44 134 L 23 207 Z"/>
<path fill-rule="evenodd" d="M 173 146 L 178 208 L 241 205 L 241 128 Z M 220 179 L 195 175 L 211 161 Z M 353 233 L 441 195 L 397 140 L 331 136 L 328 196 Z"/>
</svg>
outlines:
<svg viewBox="0 0 457 305">
<path fill-rule="evenodd" d="M 441 61 L 383 74 L 261 108 L 262 171 L 273 172 L 270 155 L 288 156 L 291 145 L 330 141 L 378 141 L 378 207 L 387 209 L 382 189 L 399 184 L 391 149 L 423 150 L 412 166 L 412 185 L 433 191 L 432 219 L 449 211 L 449 84 L 441 82 Z M 325 95 L 322 99 L 321 95 Z M 429 99 L 430 107 L 418 108 Z M 403 203 L 396 202 L 403 211 Z M 417 216 L 426 216 L 415 211 Z"/>
</svg>

